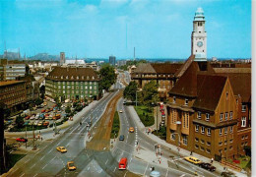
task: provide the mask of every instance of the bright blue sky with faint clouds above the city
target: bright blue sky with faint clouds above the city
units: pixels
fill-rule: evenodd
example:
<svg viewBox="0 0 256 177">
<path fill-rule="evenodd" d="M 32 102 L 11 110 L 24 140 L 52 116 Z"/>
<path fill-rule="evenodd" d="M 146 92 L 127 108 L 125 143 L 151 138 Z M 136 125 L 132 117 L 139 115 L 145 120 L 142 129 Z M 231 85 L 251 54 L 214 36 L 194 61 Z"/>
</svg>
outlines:
<svg viewBox="0 0 256 177">
<path fill-rule="evenodd" d="M 251 57 L 250 0 L 0 0 L 0 54 L 186 59 L 198 7 L 208 58 Z"/>
</svg>

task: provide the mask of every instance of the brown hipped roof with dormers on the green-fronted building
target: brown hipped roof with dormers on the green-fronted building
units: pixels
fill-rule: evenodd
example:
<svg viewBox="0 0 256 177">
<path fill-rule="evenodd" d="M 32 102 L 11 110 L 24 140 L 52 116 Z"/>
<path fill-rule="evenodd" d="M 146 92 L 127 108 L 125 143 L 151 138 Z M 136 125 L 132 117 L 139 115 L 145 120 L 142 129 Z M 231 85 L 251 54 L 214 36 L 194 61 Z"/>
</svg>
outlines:
<svg viewBox="0 0 256 177">
<path fill-rule="evenodd" d="M 55 81 L 99 81 L 92 68 L 55 67 L 46 79 Z"/>
</svg>

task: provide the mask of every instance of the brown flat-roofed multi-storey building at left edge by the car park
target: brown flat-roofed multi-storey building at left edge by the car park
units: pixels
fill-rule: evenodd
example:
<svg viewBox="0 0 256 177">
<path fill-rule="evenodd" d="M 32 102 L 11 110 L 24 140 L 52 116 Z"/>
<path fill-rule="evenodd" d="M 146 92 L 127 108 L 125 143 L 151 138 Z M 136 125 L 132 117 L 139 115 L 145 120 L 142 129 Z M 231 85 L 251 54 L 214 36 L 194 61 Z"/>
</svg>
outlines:
<svg viewBox="0 0 256 177">
<path fill-rule="evenodd" d="M 0 82 L 0 102 L 7 105 L 11 112 L 21 110 L 27 101 L 26 82 L 3 81 Z"/>
</svg>

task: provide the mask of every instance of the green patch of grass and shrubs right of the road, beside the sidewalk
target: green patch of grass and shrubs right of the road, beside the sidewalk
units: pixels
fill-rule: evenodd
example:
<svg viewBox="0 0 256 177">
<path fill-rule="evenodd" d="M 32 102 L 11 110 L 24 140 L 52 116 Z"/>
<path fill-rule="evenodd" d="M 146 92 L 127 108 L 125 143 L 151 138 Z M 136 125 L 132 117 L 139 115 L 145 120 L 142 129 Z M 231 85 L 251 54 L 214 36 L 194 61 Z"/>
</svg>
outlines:
<svg viewBox="0 0 256 177">
<path fill-rule="evenodd" d="M 137 107 L 134 107 L 137 114 L 139 115 L 142 123 L 146 126 L 152 126 L 155 124 L 155 118 L 152 115 L 153 114 L 153 108 L 149 108 L 145 105 L 138 105 Z"/>
</svg>

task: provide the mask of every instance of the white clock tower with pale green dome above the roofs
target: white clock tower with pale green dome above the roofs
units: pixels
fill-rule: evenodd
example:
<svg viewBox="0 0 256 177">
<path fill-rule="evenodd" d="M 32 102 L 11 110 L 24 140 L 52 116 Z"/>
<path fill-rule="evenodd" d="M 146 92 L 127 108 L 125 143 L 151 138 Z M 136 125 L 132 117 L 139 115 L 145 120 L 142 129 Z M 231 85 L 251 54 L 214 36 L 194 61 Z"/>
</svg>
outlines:
<svg viewBox="0 0 256 177">
<path fill-rule="evenodd" d="M 207 61 L 207 32 L 205 31 L 205 16 L 202 8 L 198 8 L 191 34 L 191 54 L 195 55 L 195 61 Z"/>
</svg>

